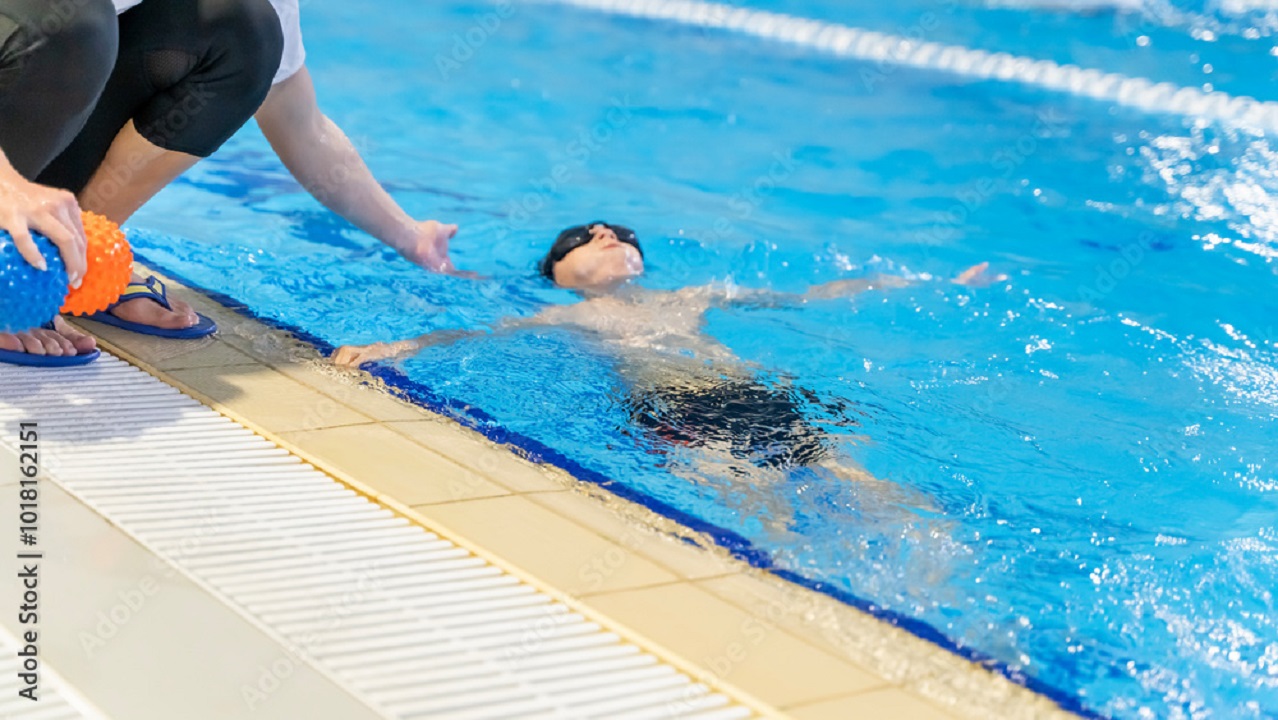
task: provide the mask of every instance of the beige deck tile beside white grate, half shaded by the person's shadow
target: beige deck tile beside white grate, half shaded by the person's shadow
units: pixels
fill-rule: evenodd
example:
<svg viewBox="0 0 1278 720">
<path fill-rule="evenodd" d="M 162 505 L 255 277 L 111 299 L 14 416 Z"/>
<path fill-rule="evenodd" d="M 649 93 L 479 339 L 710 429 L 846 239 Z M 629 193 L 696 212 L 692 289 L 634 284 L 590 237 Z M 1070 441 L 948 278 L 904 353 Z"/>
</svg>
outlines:
<svg viewBox="0 0 1278 720">
<path fill-rule="evenodd" d="M 178 370 L 169 376 L 216 405 L 272 432 L 371 422 L 334 399 L 253 364 Z"/>
</svg>

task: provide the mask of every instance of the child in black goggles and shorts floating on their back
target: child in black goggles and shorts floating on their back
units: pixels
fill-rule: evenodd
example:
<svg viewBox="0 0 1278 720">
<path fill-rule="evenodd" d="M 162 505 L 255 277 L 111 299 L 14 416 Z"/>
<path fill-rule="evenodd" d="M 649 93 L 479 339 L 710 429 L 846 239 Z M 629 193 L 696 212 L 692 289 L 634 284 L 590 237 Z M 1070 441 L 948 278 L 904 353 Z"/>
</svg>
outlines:
<svg viewBox="0 0 1278 720">
<path fill-rule="evenodd" d="M 953 281 L 979 285 L 1006 279 L 992 278 L 987 270 L 988 263 L 976 265 Z M 836 280 L 804 294 L 723 285 L 649 290 L 630 283 L 644 271 L 638 237 L 608 223 L 560 233 L 541 271 L 557 286 L 576 290 L 581 302 L 505 320 L 496 333 L 558 326 L 596 339 L 616 361 L 633 422 L 651 434 L 658 448 L 695 449 L 698 463 L 709 458 L 737 469 L 819 466 L 866 480 L 864 472 L 833 457 L 827 435 L 804 412 L 805 405 L 820 404 L 814 394 L 762 381 L 731 348 L 704 333 L 705 313 L 716 307 L 785 307 L 843 298 L 905 286 L 911 280 L 889 275 Z M 334 361 L 358 366 L 486 334 L 436 331 L 412 340 L 345 345 L 334 353 Z"/>
</svg>

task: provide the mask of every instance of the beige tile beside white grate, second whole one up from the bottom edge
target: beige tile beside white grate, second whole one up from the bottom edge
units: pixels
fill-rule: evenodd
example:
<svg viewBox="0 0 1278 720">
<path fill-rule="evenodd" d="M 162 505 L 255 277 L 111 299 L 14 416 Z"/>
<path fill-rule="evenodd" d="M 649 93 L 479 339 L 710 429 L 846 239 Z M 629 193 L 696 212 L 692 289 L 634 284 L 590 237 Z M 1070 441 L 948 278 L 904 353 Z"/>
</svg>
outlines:
<svg viewBox="0 0 1278 720">
<path fill-rule="evenodd" d="M 625 590 L 677 578 L 599 535 L 514 495 L 415 508 L 427 527 L 438 522 L 567 595 Z"/>
</svg>

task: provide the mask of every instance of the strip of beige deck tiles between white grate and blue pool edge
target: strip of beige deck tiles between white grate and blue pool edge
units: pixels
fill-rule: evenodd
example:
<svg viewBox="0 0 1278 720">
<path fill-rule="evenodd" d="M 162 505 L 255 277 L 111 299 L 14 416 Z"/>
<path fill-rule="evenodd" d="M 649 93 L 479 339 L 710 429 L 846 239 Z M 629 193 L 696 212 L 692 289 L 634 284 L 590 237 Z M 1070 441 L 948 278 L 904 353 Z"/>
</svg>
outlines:
<svg viewBox="0 0 1278 720">
<path fill-rule="evenodd" d="M 165 279 L 217 320 L 217 336 L 174 341 L 83 326 L 105 349 L 766 715 L 1072 717 Z"/>
</svg>

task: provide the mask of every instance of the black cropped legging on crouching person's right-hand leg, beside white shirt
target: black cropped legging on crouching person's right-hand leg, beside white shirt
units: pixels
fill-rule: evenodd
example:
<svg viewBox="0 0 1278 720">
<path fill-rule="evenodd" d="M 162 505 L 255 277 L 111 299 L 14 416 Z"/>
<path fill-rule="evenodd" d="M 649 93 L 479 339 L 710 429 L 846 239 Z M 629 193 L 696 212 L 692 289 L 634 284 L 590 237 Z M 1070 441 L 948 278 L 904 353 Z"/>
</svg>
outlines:
<svg viewBox="0 0 1278 720">
<path fill-rule="evenodd" d="M 164 150 L 212 155 L 257 113 L 284 50 L 268 0 L 146 0 L 119 27 L 106 90 L 38 182 L 82 191 L 129 120 Z"/>
</svg>

